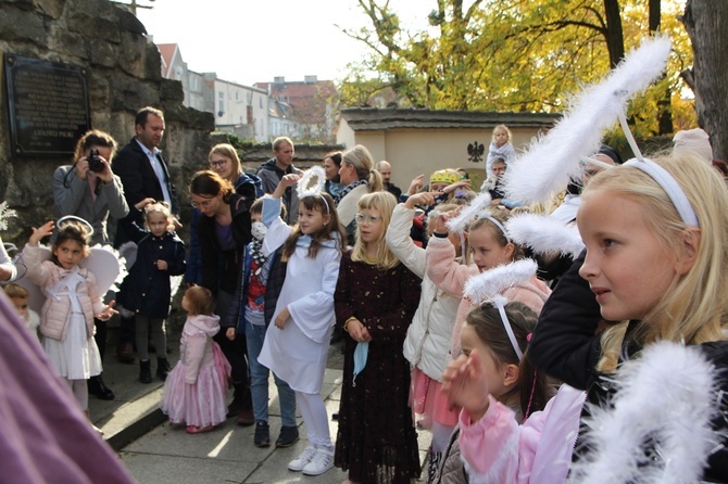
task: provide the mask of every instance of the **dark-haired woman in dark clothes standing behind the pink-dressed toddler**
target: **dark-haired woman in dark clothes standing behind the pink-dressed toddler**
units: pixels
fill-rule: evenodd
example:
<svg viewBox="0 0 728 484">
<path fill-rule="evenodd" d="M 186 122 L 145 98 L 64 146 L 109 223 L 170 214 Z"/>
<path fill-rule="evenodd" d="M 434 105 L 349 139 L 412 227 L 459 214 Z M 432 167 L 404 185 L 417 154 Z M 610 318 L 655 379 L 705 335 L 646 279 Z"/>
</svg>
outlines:
<svg viewBox="0 0 728 484">
<path fill-rule="evenodd" d="M 215 295 L 215 314 L 228 321 L 235 304 L 235 291 L 243 260 L 244 249 L 252 241 L 250 206 L 254 196 L 237 193 L 233 183 L 212 170 L 198 171 L 190 182 L 192 206 L 199 211 L 197 241 L 199 243 L 199 285 Z M 237 417 L 241 425 L 252 425 L 253 404 L 250 395 L 246 336 L 236 334 L 235 326 L 221 328 L 215 335 L 225 357 L 233 367 L 235 387 L 228 417 Z"/>
</svg>

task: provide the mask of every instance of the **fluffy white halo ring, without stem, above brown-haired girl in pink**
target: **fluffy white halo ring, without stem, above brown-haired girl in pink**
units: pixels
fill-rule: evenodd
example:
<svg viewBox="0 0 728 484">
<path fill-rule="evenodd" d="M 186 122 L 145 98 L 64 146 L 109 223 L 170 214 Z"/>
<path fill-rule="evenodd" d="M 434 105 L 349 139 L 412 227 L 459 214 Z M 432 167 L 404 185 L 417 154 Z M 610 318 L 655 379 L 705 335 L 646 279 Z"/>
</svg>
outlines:
<svg viewBox="0 0 728 484">
<path fill-rule="evenodd" d="M 477 305 L 495 301 L 505 290 L 532 278 L 537 269 L 536 260 L 529 258 L 494 267 L 468 278 L 463 295 Z"/>
</svg>

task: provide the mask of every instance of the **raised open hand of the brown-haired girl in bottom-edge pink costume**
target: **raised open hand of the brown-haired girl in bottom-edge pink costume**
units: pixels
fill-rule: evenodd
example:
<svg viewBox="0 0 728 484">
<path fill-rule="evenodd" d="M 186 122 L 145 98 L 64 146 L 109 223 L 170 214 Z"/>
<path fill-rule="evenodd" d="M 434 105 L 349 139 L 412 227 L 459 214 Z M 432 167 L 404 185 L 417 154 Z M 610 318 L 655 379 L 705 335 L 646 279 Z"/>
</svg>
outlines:
<svg viewBox="0 0 728 484">
<path fill-rule="evenodd" d="M 463 407 L 473 421 L 480 420 L 488 410 L 489 387 L 478 351 L 473 349 L 469 356 L 461 355 L 448 364 L 442 382 L 442 393 L 454 405 Z"/>
</svg>

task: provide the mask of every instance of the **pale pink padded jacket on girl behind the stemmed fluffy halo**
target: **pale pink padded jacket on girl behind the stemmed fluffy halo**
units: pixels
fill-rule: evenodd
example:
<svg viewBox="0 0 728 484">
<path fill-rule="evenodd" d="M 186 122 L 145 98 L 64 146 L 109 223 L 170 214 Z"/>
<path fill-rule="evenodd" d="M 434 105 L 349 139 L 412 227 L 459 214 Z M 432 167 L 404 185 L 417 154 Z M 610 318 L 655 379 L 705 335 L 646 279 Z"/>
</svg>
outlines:
<svg viewBox="0 0 728 484">
<path fill-rule="evenodd" d="M 427 244 L 427 277 L 435 284 L 454 297 L 463 297 L 465 282 L 470 276 L 477 276 L 478 268 L 475 264 L 464 266 L 455 260 L 455 247 L 448 239 L 432 237 Z M 551 289 L 545 282 L 534 276 L 528 282 L 511 288 L 503 293 L 509 301 L 518 301 L 534 309 L 536 314 L 541 313 L 543 304 L 551 295 Z M 465 322 L 465 317 L 470 311 L 472 305 L 467 300 L 462 300 L 457 307 L 455 326 L 452 330 L 450 355 L 456 358 L 460 355 L 460 333 Z"/>
</svg>

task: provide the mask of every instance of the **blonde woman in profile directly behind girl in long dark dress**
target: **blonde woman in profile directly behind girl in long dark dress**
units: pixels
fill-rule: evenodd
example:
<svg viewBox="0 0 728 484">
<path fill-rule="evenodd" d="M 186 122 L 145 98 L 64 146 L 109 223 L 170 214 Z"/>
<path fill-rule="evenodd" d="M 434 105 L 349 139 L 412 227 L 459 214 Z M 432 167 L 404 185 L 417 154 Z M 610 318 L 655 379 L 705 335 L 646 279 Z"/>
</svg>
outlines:
<svg viewBox="0 0 728 484">
<path fill-rule="evenodd" d="M 356 144 L 341 155 L 339 178 L 343 190 L 334 198 L 334 202 L 337 205 L 339 220 L 347 229 L 347 242 L 349 245 L 354 245 L 356 239 L 354 216 L 359 201 L 367 193 L 382 190 L 381 175 L 374 169 L 374 160 L 369 150 L 362 144 Z"/>
</svg>

